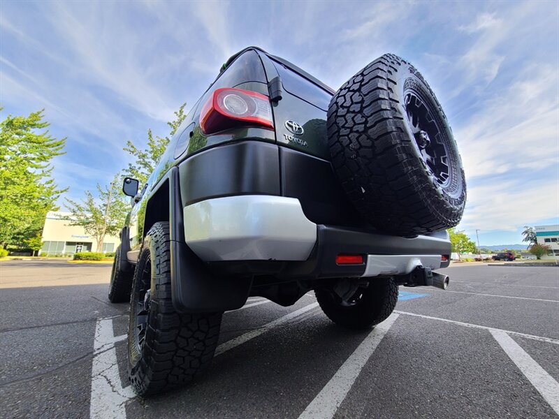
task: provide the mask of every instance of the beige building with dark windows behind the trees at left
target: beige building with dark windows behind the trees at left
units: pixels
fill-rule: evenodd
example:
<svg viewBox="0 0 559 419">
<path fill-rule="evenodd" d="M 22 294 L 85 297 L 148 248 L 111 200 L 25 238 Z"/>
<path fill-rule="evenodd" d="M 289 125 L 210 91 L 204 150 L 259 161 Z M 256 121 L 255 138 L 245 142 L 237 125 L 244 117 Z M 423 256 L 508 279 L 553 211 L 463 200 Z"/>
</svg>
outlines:
<svg viewBox="0 0 559 419">
<path fill-rule="evenodd" d="M 106 235 L 103 248 L 97 249 L 94 237 L 87 235 L 79 226 L 69 226 L 64 220 L 69 212 L 48 212 L 43 227 L 43 248 L 41 256 L 71 256 L 80 251 L 100 251 L 108 253 L 115 251 L 120 243 L 119 237 Z"/>
</svg>

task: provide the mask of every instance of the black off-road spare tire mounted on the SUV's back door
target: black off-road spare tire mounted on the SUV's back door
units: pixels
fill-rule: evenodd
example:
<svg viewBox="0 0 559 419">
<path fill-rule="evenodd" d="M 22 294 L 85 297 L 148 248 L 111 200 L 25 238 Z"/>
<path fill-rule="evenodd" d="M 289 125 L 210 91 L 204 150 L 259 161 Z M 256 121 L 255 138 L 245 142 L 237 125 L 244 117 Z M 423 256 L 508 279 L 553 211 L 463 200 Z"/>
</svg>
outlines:
<svg viewBox="0 0 559 419">
<path fill-rule="evenodd" d="M 411 64 L 393 54 L 372 61 L 333 96 L 327 124 L 333 168 L 365 221 L 402 236 L 458 224 L 466 202 L 458 148 Z"/>
</svg>

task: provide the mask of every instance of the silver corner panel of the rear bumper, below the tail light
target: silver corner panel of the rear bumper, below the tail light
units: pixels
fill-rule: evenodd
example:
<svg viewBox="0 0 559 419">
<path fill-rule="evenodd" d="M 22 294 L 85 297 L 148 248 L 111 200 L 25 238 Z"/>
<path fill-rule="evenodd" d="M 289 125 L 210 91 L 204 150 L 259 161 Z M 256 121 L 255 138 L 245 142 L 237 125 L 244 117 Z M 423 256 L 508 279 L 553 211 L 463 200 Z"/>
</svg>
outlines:
<svg viewBox="0 0 559 419">
<path fill-rule="evenodd" d="M 184 207 L 184 237 L 206 262 L 307 260 L 317 225 L 296 198 L 228 196 Z"/>
</svg>

